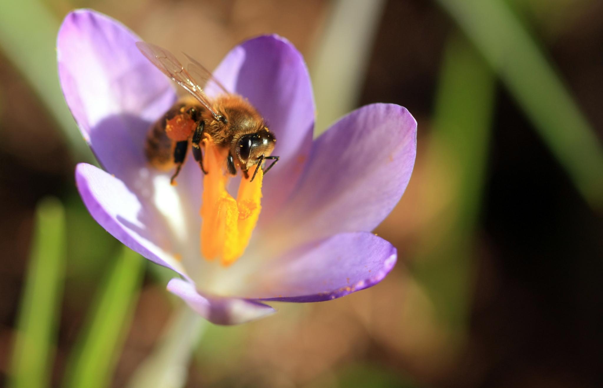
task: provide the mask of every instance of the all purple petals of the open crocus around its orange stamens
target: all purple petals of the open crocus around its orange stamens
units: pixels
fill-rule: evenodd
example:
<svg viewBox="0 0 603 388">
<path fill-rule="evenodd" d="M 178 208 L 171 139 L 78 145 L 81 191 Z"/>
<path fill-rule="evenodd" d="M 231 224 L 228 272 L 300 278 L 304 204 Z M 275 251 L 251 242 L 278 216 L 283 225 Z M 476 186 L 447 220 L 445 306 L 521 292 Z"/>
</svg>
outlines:
<svg viewBox="0 0 603 388">
<path fill-rule="evenodd" d="M 281 159 L 264 179 L 263 210 L 247 250 L 224 267 L 199 250 L 198 165 L 189 157 L 172 186 L 169 173 L 145 160 L 147 131 L 177 96 L 136 48 L 139 40 L 90 10 L 68 14 L 58 33 L 65 100 L 104 168 L 79 164 L 75 179 L 107 232 L 178 273 L 168 290 L 225 325 L 273 313 L 265 302 L 327 301 L 385 278 L 397 252 L 370 231 L 394 208 L 411 176 L 417 124 L 405 108 L 362 107 L 312 140 L 312 87 L 294 46 L 260 36 L 230 51 L 214 75 L 270 123 Z"/>
</svg>

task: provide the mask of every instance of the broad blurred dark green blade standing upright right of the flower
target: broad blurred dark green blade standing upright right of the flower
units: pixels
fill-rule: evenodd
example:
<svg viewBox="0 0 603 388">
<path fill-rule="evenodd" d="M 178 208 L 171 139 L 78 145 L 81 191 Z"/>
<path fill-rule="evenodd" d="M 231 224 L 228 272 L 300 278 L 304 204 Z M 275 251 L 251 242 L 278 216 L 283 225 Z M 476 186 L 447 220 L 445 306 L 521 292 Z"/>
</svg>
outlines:
<svg viewBox="0 0 603 388">
<path fill-rule="evenodd" d="M 455 33 L 446 46 L 438 85 L 426 150 L 428 177 L 438 182 L 424 190 L 428 197 L 434 187 L 446 188 L 436 199 L 444 207 L 421 240 L 414 274 L 434 304 L 438 323 L 458 337 L 469 311 L 472 238 L 481 209 L 495 77 L 473 45 Z"/>
</svg>

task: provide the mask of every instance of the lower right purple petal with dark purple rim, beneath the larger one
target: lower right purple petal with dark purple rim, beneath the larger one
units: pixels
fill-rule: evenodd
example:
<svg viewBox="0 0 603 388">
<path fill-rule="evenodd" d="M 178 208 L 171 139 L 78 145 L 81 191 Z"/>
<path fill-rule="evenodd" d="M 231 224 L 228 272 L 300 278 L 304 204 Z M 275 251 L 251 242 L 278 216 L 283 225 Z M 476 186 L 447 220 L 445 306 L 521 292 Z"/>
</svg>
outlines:
<svg viewBox="0 0 603 388">
<path fill-rule="evenodd" d="M 371 233 L 344 233 L 309 244 L 250 274 L 245 296 L 260 301 L 320 302 L 371 287 L 393 269 L 397 253 Z"/>
</svg>

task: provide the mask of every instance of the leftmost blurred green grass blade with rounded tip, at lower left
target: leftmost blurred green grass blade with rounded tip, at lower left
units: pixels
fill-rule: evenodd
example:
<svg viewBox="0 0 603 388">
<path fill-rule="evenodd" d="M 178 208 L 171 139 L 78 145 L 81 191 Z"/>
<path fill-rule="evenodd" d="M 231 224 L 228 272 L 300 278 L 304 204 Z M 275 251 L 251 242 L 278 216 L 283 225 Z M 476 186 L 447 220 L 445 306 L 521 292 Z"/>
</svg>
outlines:
<svg viewBox="0 0 603 388">
<path fill-rule="evenodd" d="M 57 199 L 36 211 L 36 229 L 25 279 L 8 387 L 50 386 L 51 353 L 65 272 L 65 212 Z"/>
</svg>

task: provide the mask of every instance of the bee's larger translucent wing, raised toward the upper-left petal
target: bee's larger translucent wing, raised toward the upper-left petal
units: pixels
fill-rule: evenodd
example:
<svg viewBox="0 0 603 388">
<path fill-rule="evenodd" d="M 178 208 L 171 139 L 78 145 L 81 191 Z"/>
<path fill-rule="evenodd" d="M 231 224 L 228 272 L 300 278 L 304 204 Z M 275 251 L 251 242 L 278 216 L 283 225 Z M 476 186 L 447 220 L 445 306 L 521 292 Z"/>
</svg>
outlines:
<svg viewBox="0 0 603 388">
<path fill-rule="evenodd" d="M 145 57 L 147 57 L 148 60 L 151 61 L 151 63 L 153 63 L 153 65 L 157 67 L 157 69 L 161 70 L 163 74 L 167 75 L 169 78 L 172 78 L 175 83 L 182 86 L 186 91 L 197 98 L 197 100 L 203 104 L 203 106 L 206 107 L 214 117 L 218 116 L 218 114 L 212 109 L 209 99 L 204 94 L 203 88 L 198 82 L 204 82 L 206 79 L 196 80 L 193 78 L 192 75 L 185 69 L 185 66 L 182 65 L 178 59 L 176 59 L 174 54 L 165 48 L 151 45 L 151 43 L 147 42 L 136 42 L 136 47 Z M 190 65 L 194 65 L 194 63 L 190 63 L 189 66 Z M 201 66 L 201 68 L 203 68 L 203 66 Z"/>
</svg>

